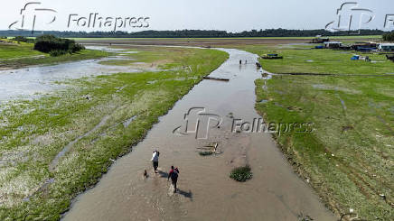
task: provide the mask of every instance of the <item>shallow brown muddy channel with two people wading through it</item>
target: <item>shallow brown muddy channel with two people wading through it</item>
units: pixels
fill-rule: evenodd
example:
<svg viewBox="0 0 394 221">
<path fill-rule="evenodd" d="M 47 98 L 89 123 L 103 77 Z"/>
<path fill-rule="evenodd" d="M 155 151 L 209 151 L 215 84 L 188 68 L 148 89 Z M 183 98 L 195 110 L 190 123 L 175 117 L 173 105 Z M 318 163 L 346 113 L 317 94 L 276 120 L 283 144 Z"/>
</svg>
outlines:
<svg viewBox="0 0 394 221">
<path fill-rule="evenodd" d="M 195 86 L 133 152 L 117 160 L 95 188 L 75 200 L 64 220 L 294 221 L 300 213 L 314 220 L 335 220 L 292 171 L 269 134 L 231 133 L 231 117 L 249 122 L 259 117 L 254 110 L 254 80 L 261 78 L 261 71 L 254 65 L 255 55 L 223 51 L 230 53 L 230 60 L 211 77 L 230 82 L 203 80 Z M 239 60 L 249 62 L 239 65 Z M 207 140 L 173 133 L 192 107 L 222 116 L 222 124 L 209 131 Z M 221 154 L 200 156 L 199 148 L 211 142 L 219 143 Z M 161 152 L 161 171 L 156 175 L 150 162 L 155 149 Z M 253 179 L 230 180 L 230 170 L 245 164 L 252 168 Z M 166 179 L 171 165 L 180 170 L 175 194 Z"/>
</svg>

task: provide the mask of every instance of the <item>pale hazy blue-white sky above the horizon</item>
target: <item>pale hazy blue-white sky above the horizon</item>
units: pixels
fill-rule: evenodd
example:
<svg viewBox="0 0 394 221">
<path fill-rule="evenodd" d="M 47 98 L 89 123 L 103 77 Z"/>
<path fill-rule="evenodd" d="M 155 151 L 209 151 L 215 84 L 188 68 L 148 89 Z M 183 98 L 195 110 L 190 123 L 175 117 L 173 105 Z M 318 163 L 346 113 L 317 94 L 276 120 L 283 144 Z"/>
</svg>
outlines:
<svg viewBox="0 0 394 221">
<path fill-rule="evenodd" d="M 28 3 L 40 4 L 27 5 L 21 14 Z M 337 9 L 344 3 L 349 4 L 343 7 L 338 25 Z M 90 24 L 89 14 L 92 14 Z M 14 23 L 11 26 L 14 30 L 31 30 L 34 26 L 34 30 L 85 32 L 183 29 L 241 32 L 324 29 L 331 22 L 329 29 L 344 29 L 349 26 L 351 14 L 352 30 L 358 27 L 394 30 L 393 0 L 13 0 L 0 7 L 0 30 L 8 30 Z M 108 17 L 112 19 L 107 20 Z M 105 22 L 108 23 L 104 25 Z"/>
</svg>

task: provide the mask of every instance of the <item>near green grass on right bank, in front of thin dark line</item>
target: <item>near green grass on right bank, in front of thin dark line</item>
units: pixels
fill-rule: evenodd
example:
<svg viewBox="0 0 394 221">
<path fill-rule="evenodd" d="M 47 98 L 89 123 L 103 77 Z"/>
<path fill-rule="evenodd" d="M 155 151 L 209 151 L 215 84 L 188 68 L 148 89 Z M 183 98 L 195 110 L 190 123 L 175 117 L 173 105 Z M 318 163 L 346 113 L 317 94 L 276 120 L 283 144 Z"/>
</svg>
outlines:
<svg viewBox="0 0 394 221">
<path fill-rule="evenodd" d="M 314 124 L 275 136 L 296 170 L 337 214 L 392 219 L 394 78 L 274 76 L 256 81 L 267 122 Z M 382 198 L 380 195 L 384 195 Z"/>
</svg>

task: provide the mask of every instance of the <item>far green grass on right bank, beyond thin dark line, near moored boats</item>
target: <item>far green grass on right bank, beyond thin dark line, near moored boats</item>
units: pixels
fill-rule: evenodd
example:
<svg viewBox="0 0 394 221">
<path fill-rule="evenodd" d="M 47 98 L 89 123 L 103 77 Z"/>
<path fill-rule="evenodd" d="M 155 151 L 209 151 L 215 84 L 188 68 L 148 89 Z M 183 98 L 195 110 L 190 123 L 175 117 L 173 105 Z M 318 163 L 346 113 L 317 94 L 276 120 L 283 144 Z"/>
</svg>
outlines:
<svg viewBox="0 0 394 221">
<path fill-rule="evenodd" d="M 351 60 L 356 51 L 315 50 L 305 45 L 251 45 L 243 49 L 258 55 L 277 53 L 283 60 L 260 60 L 263 69 L 272 73 L 315 74 L 387 74 L 394 73 L 394 62 L 385 55 L 362 53 L 372 62 Z"/>
</svg>

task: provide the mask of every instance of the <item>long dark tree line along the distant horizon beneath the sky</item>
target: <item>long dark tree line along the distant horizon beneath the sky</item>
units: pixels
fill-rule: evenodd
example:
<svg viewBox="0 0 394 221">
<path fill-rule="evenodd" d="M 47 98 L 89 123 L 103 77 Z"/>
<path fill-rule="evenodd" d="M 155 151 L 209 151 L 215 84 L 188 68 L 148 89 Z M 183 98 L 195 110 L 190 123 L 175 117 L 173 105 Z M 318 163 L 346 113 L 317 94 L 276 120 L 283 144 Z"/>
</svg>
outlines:
<svg viewBox="0 0 394 221">
<path fill-rule="evenodd" d="M 361 30 L 361 35 L 382 35 L 389 32 L 381 30 Z M 329 32 L 319 30 L 288 30 L 288 29 L 266 29 L 251 30 L 245 32 L 226 32 L 216 30 L 177 30 L 177 31 L 143 31 L 143 32 L 60 32 L 60 31 L 0 31 L 0 36 L 29 36 L 37 37 L 42 34 L 52 34 L 63 38 L 248 38 L 248 37 L 314 37 L 324 36 L 346 36 L 350 32 Z"/>
</svg>

